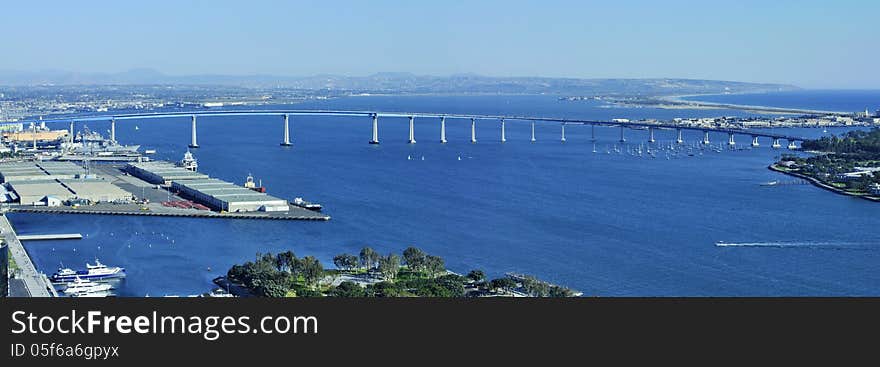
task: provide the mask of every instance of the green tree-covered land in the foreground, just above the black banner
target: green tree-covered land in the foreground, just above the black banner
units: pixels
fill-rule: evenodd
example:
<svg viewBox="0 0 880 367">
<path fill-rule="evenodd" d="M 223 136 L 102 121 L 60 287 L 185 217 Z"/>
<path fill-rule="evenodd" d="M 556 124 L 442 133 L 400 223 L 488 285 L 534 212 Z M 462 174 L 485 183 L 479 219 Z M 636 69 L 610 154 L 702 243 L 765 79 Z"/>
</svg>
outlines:
<svg viewBox="0 0 880 367">
<path fill-rule="evenodd" d="M 482 270 L 459 275 L 439 256 L 409 247 L 400 255 L 380 255 L 364 247 L 358 255 L 339 254 L 335 269 L 293 251 L 257 254 L 233 265 L 214 282 L 240 297 L 577 297 L 581 293 L 529 275 L 489 279 Z"/>
</svg>

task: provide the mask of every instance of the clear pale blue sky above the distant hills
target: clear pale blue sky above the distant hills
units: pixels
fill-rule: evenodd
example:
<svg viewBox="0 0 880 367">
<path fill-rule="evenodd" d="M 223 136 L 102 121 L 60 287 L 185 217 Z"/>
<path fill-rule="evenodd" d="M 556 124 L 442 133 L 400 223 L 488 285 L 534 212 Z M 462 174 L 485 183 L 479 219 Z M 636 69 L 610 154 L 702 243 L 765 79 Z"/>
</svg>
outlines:
<svg viewBox="0 0 880 367">
<path fill-rule="evenodd" d="M 880 88 L 880 1 L 4 1 L 4 70 Z"/>
</svg>

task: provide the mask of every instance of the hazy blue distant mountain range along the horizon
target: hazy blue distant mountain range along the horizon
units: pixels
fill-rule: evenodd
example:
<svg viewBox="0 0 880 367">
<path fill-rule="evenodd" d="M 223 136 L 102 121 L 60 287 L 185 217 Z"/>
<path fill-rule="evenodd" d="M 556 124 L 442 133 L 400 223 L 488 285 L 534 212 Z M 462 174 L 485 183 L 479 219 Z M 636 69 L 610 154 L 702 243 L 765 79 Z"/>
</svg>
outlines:
<svg viewBox="0 0 880 367">
<path fill-rule="evenodd" d="M 229 85 L 249 88 L 295 88 L 359 93 L 496 93 L 560 95 L 672 95 L 797 90 L 784 84 L 745 83 L 696 79 L 577 79 L 545 77 L 489 77 L 474 74 L 427 76 L 377 73 L 369 76 L 315 75 L 167 75 L 153 69 L 121 73 L 68 71 L 19 72 L 0 70 L 0 85 Z"/>
</svg>

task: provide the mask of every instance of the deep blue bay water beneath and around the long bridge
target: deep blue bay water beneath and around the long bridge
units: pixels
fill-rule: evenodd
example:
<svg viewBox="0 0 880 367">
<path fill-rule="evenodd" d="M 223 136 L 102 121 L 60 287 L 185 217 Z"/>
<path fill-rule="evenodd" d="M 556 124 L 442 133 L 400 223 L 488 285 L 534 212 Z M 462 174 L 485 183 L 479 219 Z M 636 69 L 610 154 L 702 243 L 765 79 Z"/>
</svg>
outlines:
<svg viewBox="0 0 880 367">
<path fill-rule="evenodd" d="M 550 96 L 353 97 L 296 108 L 594 119 L 739 114 L 603 108 Z M 103 131 L 107 124 L 89 125 Z M 257 252 L 292 249 L 332 266 L 334 255 L 363 246 L 399 253 L 410 245 L 457 272 L 534 274 L 588 296 L 880 295 L 880 206 L 810 185 L 761 186 L 786 180 L 766 168 L 781 153 L 769 141 L 667 160 L 605 154 L 619 144 L 616 128 L 596 129 L 593 153 L 589 127 L 568 126 L 562 144 L 558 124 L 539 124 L 538 141 L 529 143 L 528 124 L 509 121 L 501 144 L 498 123 L 481 121 L 478 143 L 470 144 L 470 121 L 447 125 L 449 143 L 440 144 L 439 120 L 417 119 L 418 143 L 409 145 L 407 120 L 382 118 L 382 144 L 373 146 L 369 119 L 296 116 L 294 146 L 285 149 L 280 117 L 199 118 L 201 171 L 236 183 L 252 173 L 272 195 L 324 204 L 328 222 L 10 217 L 19 233 L 86 235 L 26 247 L 47 273 L 95 257 L 124 266 L 124 296 L 204 292 Z M 123 143 L 178 160 L 189 120 L 124 120 L 117 131 Z M 630 144 L 647 139 L 645 131 L 626 134 Z M 657 138 L 669 144 L 674 132 Z"/>
</svg>

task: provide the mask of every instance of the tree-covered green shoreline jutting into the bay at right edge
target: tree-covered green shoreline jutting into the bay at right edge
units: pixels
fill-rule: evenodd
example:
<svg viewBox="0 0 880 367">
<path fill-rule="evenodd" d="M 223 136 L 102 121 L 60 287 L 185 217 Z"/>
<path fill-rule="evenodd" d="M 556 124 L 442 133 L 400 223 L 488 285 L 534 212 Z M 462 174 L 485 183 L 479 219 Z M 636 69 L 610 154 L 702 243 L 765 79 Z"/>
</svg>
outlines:
<svg viewBox="0 0 880 367">
<path fill-rule="evenodd" d="M 804 141 L 814 155 L 784 154 L 770 169 L 843 195 L 880 201 L 880 129 Z"/>
</svg>

